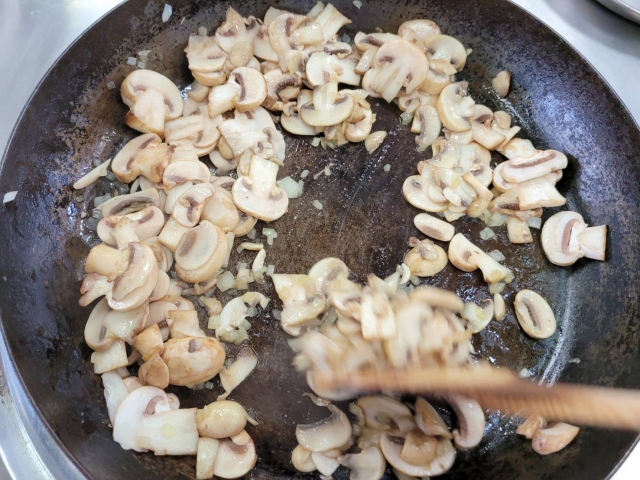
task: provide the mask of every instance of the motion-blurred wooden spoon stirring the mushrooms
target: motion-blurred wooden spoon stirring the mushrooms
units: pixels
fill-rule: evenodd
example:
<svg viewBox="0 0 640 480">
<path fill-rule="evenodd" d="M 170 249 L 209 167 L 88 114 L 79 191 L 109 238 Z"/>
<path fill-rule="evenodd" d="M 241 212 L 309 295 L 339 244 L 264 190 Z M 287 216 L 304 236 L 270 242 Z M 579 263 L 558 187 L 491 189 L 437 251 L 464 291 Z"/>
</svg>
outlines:
<svg viewBox="0 0 640 480">
<path fill-rule="evenodd" d="M 313 382 L 319 391 L 459 393 L 505 413 L 537 413 L 549 421 L 640 431 L 640 391 L 569 384 L 545 387 L 489 366 L 316 372 Z"/>
</svg>

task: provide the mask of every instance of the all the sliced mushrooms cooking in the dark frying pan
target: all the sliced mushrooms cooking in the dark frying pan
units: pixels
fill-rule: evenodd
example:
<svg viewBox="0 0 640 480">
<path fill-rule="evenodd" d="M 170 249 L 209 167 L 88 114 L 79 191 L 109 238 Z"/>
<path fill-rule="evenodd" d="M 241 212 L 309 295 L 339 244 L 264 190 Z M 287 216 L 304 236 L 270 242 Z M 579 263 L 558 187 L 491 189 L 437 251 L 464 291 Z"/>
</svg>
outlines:
<svg viewBox="0 0 640 480">
<path fill-rule="evenodd" d="M 311 372 L 336 368 L 469 363 L 471 336 L 505 315 L 501 292 L 514 274 L 503 256 L 482 251 L 451 222 L 479 218 L 487 225 L 483 235 L 506 224 L 512 243 L 531 243 L 542 209 L 566 203 L 555 184 L 567 157 L 515 137 L 520 127 L 509 114 L 475 103 L 468 85 L 455 81 L 470 53 L 458 40 L 433 21 L 411 20 L 395 34 L 359 32 L 352 41 L 338 35 L 349 23 L 321 2 L 306 15 L 270 7 L 263 20 L 229 8 L 213 36 L 201 27 L 189 37 L 185 52 L 195 80 L 184 100 L 170 79 L 150 70 L 135 70 L 122 83 L 125 122 L 140 135 L 74 185 L 82 189 L 112 176 L 129 192 L 102 198 L 93 215 L 100 242 L 87 257 L 80 299 L 82 306 L 100 299 L 85 339 L 122 448 L 196 455 L 199 479 L 251 471 L 257 454 L 245 427 L 257 422 L 227 399 L 257 364 L 245 343 L 248 318 L 271 301 L 248 291 L 251 284 L 273 281 L 283 305 L 274 315 L 294 337 L 294 366 L 309 382 Z M 492 84 L 507 96 L 509 73 Z M 397 271 L 384 279 L 371 274 L 366 285 L 349 280 L 349 268 L 337 258 L 318 262 L 306 275 L 275 273 L 266 265 L 267 247 L 251 241 L 255 227 L 282 217 L 303 188 L 277 178 L 285 161 L 277 125 L 314 136 L 312 143 L 323 148 L 364 142 L 372 152 L 386 132 L 372 132 L 369 97 L 395 102 L 402 124 L 417 134 L 417 150 L 431 147 L 431 158 L 418 163 L 402 189 L 411 205 L 428 212 L 414 219 L 425 238 L 408 239 Z M 506 160 L 492 168 L 491 151 Z M 207 156 L 214 168 L 203 161 Z M 263 233 L 268 244 L 277 235 L 270 228 Z M 556 265 L 605 259 L 606 226 L 588 227 L 576 212 L 551 216 L 541 239 Z M 448 242 L 448 250 L 433 240 Z M 234 248 L 255 252 L 251 265 L 236 266 L 236 275 L 229 265 Z M 464 272 L 480 269 L 493 299 L 476 305 L 416 287 L 448 262 Z M 223 306 L 216 290 L 232 289 L 238 296 Z M 187 296 L 206 309 L 213 335 L 201 328 Z M 529 336 L 555 332 L 553 310 L 538 293 L 520 291 L 514 309 Z M 225 343 L 243 345 L 233 362 Z M 196 388 L 216 375 L 225 393 L 202 409 L 181 409 L 178 397 L 164 391 Z M 483 410 L 464 397 L 445 399 L 457 417 L 452 431 L 420 397 L 411 404 L 360 397 L 349 407 L 352 422 L 331 401 L 355 392 L 309 386 L 310 398 L 330 415 L 298 425 L 292 464 L 323 478 L 343 465 L 353 480 L 377 479 L 387 463 L 401 479 L 436 476 L 453 465 L 456 448 L 475 447 L 484 432 Z M 578 428 L 546 425 L 533 415 L 517 433 L 548 454 L 564 448 Z"/>
</svg>

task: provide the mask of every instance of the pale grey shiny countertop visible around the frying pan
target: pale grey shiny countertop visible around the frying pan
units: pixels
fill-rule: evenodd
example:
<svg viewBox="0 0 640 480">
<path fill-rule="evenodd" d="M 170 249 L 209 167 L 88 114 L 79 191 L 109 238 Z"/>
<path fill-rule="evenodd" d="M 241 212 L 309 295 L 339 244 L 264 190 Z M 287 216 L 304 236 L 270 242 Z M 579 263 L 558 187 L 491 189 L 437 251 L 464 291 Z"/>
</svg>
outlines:
<svg viewBox="0 0 640 480">
<path fill-rule="evenodd" d="M 609 12 L 595 0 L 512 0 L 564 37 L 598 70 L 640 124 L 640 26 Z M 53 62 L 95 20 L 120 0 L 0 0 L 0 152 L 14 124 Z M 132 52 L 135 53 L 135 52 Z M 0 479 L 61 478 L 55 455 L 39 458 L 28 441 L 13 402 L 7 351 L 0 339 Z M 14 380 L 15 381 L 15 380 Z M 7 388 L 7 386 L 9 388 Z M 33 434 L 33 432 L 31 432 Z M 50 447 L 50 446 L 49 446 Z M 37 448 L 47 450 L 47 445 Z M 53 459 L 53 460 L 52 460 Z M 636 449 L 613 480 L 635 480 L 640 471 Z M 11 472 L 11 473 L 10 473 Z"/>
</svg>

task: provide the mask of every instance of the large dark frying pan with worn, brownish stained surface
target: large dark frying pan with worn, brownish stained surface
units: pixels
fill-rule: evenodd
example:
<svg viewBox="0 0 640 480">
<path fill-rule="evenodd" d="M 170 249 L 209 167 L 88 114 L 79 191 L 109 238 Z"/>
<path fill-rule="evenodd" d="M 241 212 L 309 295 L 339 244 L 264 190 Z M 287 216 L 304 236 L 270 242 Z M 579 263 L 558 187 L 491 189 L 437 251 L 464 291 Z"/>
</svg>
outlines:
<svg viewBox="0 0 640 480">
<path fill-rule="evenodd" d="M 91 351 L 83 328 L 90 308 L 78 307 L 82 260 L 89 234 L 82 213 L 91 199 L 110 190 L 101 180 L 78 198 L 70 185 L 95 161 L 112 157 L 135 132 L 124 124 L 118 89 L 133 67 L 126 58 L 151 49 L 148 67 L 180 87 L 191 82 L 182 52 L 189 32 L 210 33 L 233 2 L 173 0 L 169 22 L 160 21 L 162 2 L 129 1 L 89 29 L 60 58 L 39 85 L 18 122 L 0 172 L 0 191 L 19 189 L 15 202 L 0 207 L 0 314 L 2 329 L 24 387 L 42 422 L 60 448 L 90 478 L 193 478 L 195 459 L 154 457 L 126 452 L 111 439 L 101 382 L 91 371 Z M 395 31 L 404 21 L 431 18 L 442 30 L 473 49 L 459 78 L 471 84 L 478 103 L 503 109 L 521 125 L 520 136 L 538 148 L 563 151 L 570 159 L 559 184 L 567 207 L 591 225 L 610 227 L 607 261 L 578 261 L 560 268 L 546 261 L 534 230 L 531 245 L 510 245 L 504 228 L 497 241 L 482 241 L 477 221 L 455 222 L 485 250 L 499 249 L 516 280 L 505 290 L 507 317 L 476 335 L 479 358 L 515 369 L 529 368 L 536 381 L 563 381 L 615 387 L 640 387 L 637 272 L 640 255 L 640 157 L 638 128 L 619 99 L 590 65 L 562 39 L 520 8 L 498 0 L 429 2 L 366 0 L 336 6 L 353 20 L 343 31 Z M 283 0 L 282 8 L 306 12 L 311 1 Z M 266 1 L 234 4 L 244 15 L 262 16 Z M 500 100 L 490 80 L 500 70 L 512 73 L 511 93 Z M 298 178 L 308 169 L 305 191 L 272 225 L 278 232 L 267 263 L 276 271 L 303 273 L 326 256 L 342 258 L 363 280 L 395 270 L 418 235 L 417 210 L 401 195 L 404 179 L 425 154 L 415 151 L 413 135 L 399 125 L 394 105 L 373 100 L 376 130 L 390 134 L 373 155 L 362 144 L 337 150 L 310 146 L 309 139 L 287 136 L 287 160 L 280 172 Z M 429 152 L 426 152 L 428 154 Z M 496 155 L 495 161 L 500 158 Z M 331 175 L 313 174 L 333 163 Z M 385 172 L 383 166 L 391 169 Z M 323 204 L 322 210 L 312 206 Z M 545 209 L 545 218 L 553 214 Z M 262 224 L 258 224 L 261 233 Z M 258 239 L 262 239 L 261 236 Z M 446 245 L 445 245 L 446 246 Z M 232 264 L 250 256 L 232 257 Z M 423 281 L 455 290 L 465 300 L 488 296 L 478 272 L 449 267 Z M 558 332 L 539 341 L 526 337 L 513 315 L 513 297 L 522 288 L 540 292 L 552 305 Z M 251 478 L 302 478 L 290 464 L 297 423 L 326 416 L 302 394 L 302 375 L 290 366 L 293 352 L 271 308 L 252 321 L 249 345 L 259 363 L 231 398 L 252 408 L 260 422 L 251 428 L 258 463 Z M 220 299 L 227 301 L 228 297 Z M 206 327 L 204 315 L 202 326 Z M 229 349 L 233 356 L 234 348 Z M 579 363 L 577 363 L 579 360 Z M 221 393 L 213 389 L 170 389 L 184 407 L 203 406 Z M 343 405 L 344 406 L 344 405 Z M 455 421 L 446 409 L 441 411 Z M 583 429 L 560 453 L 540 457 L 529 442 L 514 435 L 515 422 L 487 412 L 481 445 L 459 452 L 442 478 L 605 478 L 635 441 L 628 432 Z M 340 471 L 338 478 L 347 478 Z M 390 472 L 387 478 L 392 478 Z"/>
</svg>

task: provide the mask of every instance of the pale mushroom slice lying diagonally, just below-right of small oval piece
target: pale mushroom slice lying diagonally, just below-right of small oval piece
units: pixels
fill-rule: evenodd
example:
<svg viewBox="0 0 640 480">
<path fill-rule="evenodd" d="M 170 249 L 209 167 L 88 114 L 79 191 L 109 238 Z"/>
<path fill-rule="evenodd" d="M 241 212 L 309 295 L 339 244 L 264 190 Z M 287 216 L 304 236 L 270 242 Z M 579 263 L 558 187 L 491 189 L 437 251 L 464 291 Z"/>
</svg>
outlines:
<svg viewBox="0 0 640 480">
<path fill-rule="evenodd" d="M 511 281 L 513 273 L 500 265 L 492 257 L 484 253 L 461 233 L 456 234 L 449 243 L 449 261 L 464 272 L 472 272 L 477 268 L 482 270 L 487 283 Z M 508 283 L 508 282 L 507 282 Z"/>
</svg>

